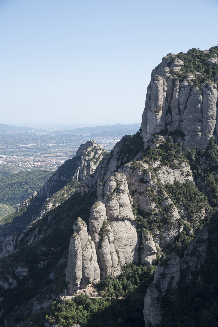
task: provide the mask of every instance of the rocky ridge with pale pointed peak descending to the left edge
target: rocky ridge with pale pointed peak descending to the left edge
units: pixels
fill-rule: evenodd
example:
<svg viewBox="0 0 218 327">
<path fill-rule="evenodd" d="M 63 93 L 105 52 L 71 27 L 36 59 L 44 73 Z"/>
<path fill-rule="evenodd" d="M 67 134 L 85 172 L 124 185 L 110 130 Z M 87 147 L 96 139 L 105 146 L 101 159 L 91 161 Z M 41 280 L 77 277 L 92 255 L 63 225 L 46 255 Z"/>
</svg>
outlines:
<svg viewBox="0 0 218 327">
<path fill-rule="evenodd" d="M 0 257 L 13 253 L 15 245 L 25 236 L 25 233 L 28 228 L 31 227 L 32 223 L 42 219 L 49 211 L 58 207 L 67 198 L 73 195 L 74 187 L 70 184 L 72 180 L 81 181 L 83 178 L 86 180 L 86 176 L 89 176 L 89 186 L 92 188 L 96 187 L 97 172 L 92 174 L 92 171 L 99 165 L 102 158 L 107 159 L 108 156 L 108 152 L 103 150 L 93 140 L 87 141 L 85 144 L 81 145 L 75 157 L 63 163 L 57 171 L 48 178 L 45 185 L 43 185 L 38 192 L 33 192 L 27 200 L 21 202 L 15 215 L 19 216 L 22 210 L 25 212 L 25 215 L 28 216 L 28 220 L 25 217 L 24 222 L 22 222 L 22 219 L 19 219 L 16 223 L 0 223 L 0 242 L 3 246 L 3 252 L 0 254 Z M 83 172 L 83 174 L 79 174 L 79 171 L 80 173 Z M 27 230 L 25 228 L 27 228 Z M 18 233 L 23 230 L 22 237 L 17 238 L 14 234 L 13 240 L 11 237 L 8 238 L 10 233 Z M 43 235 L 44 233 L 31 235 L 27 244 L 31 244 Z"/>
</svg>

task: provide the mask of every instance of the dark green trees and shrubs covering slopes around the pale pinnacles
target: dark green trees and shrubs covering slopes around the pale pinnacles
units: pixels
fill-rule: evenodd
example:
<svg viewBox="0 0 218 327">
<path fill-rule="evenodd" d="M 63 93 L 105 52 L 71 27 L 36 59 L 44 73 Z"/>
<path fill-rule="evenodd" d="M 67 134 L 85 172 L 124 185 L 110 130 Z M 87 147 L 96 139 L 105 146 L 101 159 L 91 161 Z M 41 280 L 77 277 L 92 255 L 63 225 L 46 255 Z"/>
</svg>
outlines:
<svg viewBox="0 0 218 327">
<path fill-rule="evenodd" d="M 130 139 L 124 151 L 139 151 L 143 146 L 140 134 L 137 133 Z M 179 166 L 187 162 L 193 170 L 196 180 L 205 181 L 204 193 L 201 193 L 192 181 L 163 185 L 158 180 L 158 194 L 155 198 L 156 208 L 161 209 L 160 197 L 165 191 L 180 214 L 180 222 L 185 225 L 186 217 L 179 210 L 180 205 L 187 208 L 187 215 L 191 224 L 197 224 L 198 229 L 205 226 L 208 229 L 209 241 L 207 257 L 201 269 L 193 273 L 189 284 L 186 284 L 186 271 L 181 271 L 178 292 L 175 301 L 172 301 L 170 292 L 159 299 L 162 301 L 163 317 L 159 327 L 217 327 L 218 326 L 218 144 L 211 140 L 210 146 L 199 151 L 197 148 L 185 150 L 181 144 L 173 142 L 173 138 L 168 137 L 166 143 L 159 147 L 142 148 L 142 160 L 151 169 L 152 178 L 156 176 L 159 167 L 152 168 L 154 160 L 159 161 L 159 165 L 168 164 L 170 167 Z M 205 158 L 209 162 L 209 168 L 199 166 L 200 159 Z M 121 159 L 125 162 L 126 155 Z M 175 163 L 176 160 L 176 163 Z M 133 167 L 137 167 L 139 162 L 132 162 Z M 176 167 L 177 167 L 176 166 Z M 66 169 L 62 166 L 63 171 Z M 73 182 L 67 185 L 73 188 Z M 208 200 L 209 198 L 209 200 Z M 81 197 L 78 193 L 73 193 L 61 205 L 49 211 L 49 214 L 42 217 L 31 228 L 17 234 L 20 237 L 19 244 L 15 246 L 15 251 L 10 256 L 0 259 L 1 271 L 0 280 L 5 281 L 5 276 L 11 276 L 16 281 L 14 288 L 1 288 L 1 296 L 4 301 L 0 302 L 0 326 L 5 326 L 4 320 L 9 327 L 14 327 L 20 323 L 21 327 L 44 327 L 58 324 L 59 327 L 72 327 L 75 323 L 81 327 L 144 327 L 143 306 L 144 297 L 148 285 L 154 280 L 157 264 L 164 258 L 158 257 L 156 264 L 146 267 L 142 263 L 129 264 L 122 267 L 122 273 L 115 279 L 110 276 L 105 281 L 97 284 L 97 290 L 101 298 L 89 299 L 88 295 L 80 294 L 74 301 L 66 301 L 65 305 L 59 302 L 59 292 L 67 287 L 66 265 L 69 253 L 70 238 L 73 233 L 73 224 L 78 216 L 87 224 L 90 217 L 90 209 L 96 200 L 96 192 L 89 192 Z M 38 204 L 40 208 L 41 204 Z M 197 223 L 196 214 L 205 210 L 204 219 Z M 22 208 L 25 210 L 25 208 Z M 139 209 L 136 201 L 133 202 L 133 213 L 136 215 L 135 223 L 139 237 L 140 247 L 142 246 L 142 230 L 150 229 L 154 224 L 162 228 L 162 222 L 158 216 L 152 216 L 151 212 L 144 212 Z M 16 213 L 18 223 L 20 217 L 27 219 L 36 212 L 36 208 L 30 206 L 22 216 L 20 211 Z M 13 214 L 15 216 L 15 214 Z M 25 216 L 26 215 L 26 216 Z M 164 219 L 167 215 L 161 212 Z M 8 218 L 10 219 L 8 215 Z M 25 218 L 26 217 L 26 218 Z M 22 234 L 25 234 L 22 236 Z M 38 236 L 37 236 L 38 235 Z M 42 235 L 42 237 L 39 237 Z M 22 237 L 21 237 L 22 236 Z M 29 245 L 27 240 L 39 237 L 37 241 Z M 189 235 L 186 230 L 178 234 L 174 244 L 168 247 L 167 253 L 176 252 L 179 257 L 184 257 L 184 251 L 192 242 L 194 235 Z M 139 258 L 140 255 L 139 247 Z M 194 253 L 193 253 L 194 254 Z M 139 259 L 140 260 L 140 259 Z M 18 277 L 14 269 L 26 267 L 28 274 Z M 14 268 L 13 268 L 14 267 Z M 53 273 L 54 279 L 50 279 Z M 22 277 L 22 278 L 21 278 Z M 12 279 L 11 279 L 12 280 Z M 2 282 L 3 283 L 3 282 Z M 35 302 L 34 302 L 35 301 Z M 47 302 L 46 302 L 47 301 Z M 50 304 L 46 307 L 47 303 Z M 53 303 L 52 303 L 53 302 Z M 36 304 L 35 304 L 36 303 Z M 44 304 L 45 303 L 45 304 Z M 43 305 L 42 305 L 43 304 Z M 34 306 L 41 306 L 38 312 L 32 314 Z M 149 327 L 151 324 L 148 325 Z"/>
</svg>

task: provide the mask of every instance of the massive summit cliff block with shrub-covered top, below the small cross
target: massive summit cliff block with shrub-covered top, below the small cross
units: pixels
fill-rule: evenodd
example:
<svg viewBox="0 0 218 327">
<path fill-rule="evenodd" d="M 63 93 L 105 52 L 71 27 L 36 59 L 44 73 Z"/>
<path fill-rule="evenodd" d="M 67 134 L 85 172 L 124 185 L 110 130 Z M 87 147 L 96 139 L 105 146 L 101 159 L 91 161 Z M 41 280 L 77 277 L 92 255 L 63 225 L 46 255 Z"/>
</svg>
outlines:
<svg viewBox="0 0 218 327">
<path fill-rule="evenodd" d="M 145 148 L 158 134 L 200 149 L 212 135 L 217 139 L 217 63 L 218 46 L 162 58 L 147 88 L 142 115 Z"/>
</svg>

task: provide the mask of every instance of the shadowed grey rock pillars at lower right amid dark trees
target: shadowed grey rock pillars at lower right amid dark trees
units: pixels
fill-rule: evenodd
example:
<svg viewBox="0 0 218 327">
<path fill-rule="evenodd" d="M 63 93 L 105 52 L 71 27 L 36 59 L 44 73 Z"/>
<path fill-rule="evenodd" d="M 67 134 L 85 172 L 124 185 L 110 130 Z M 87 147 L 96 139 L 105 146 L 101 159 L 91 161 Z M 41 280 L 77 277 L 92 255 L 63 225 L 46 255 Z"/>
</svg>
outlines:
<svg viewBox="0 0 218 327">
<path fill-rule="evenodd" d="M 165 295 L 166 290 L 168 291 L 168 295 L 174 298 L 179 279 L 179 257 L 176 253 L 171 253 L 157 266 L 154 283 L 148 286 L 144 298 L 143 313 L 145 323 L 151 323 L 152 326 L 155 326 L 161 322 L 161 298 Z"/>
</svg>

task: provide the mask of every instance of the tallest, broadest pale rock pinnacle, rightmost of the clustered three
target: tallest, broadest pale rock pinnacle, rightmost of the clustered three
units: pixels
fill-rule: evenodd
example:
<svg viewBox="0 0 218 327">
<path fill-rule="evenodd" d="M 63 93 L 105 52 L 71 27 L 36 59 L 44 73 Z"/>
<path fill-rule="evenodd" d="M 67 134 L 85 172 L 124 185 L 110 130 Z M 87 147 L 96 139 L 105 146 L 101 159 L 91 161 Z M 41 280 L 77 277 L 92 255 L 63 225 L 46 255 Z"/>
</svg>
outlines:
<svg viewBox="0 0 218 327">
<path fill-rule="evenodd" d="M 98 200 L 105 204 L 121 265 L 137 262 L 138 238 L 126 176 L 122 173 L 109 176 L 99 186 Z"/>
</svg>

